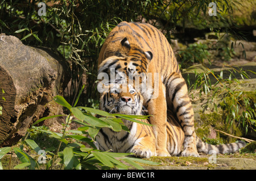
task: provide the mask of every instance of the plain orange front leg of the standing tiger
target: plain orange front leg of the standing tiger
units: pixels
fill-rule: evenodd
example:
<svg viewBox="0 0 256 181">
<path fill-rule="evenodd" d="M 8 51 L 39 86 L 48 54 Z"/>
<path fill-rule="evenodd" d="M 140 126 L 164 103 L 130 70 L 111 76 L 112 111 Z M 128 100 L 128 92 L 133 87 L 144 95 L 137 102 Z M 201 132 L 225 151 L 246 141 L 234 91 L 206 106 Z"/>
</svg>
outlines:
<svg viewBox="0 0 256 181">
<path fill-rule="evenodd" d="M 148 102 L 147 109 L 150 117 L 150 124 L 153 125 L 153 133 L 156 140 L 156 154 L 160 157 L 171 157 L 167 150 L 167 104 L 164 96 L 164 85 L 159 85 L 158 94 Z"/>
</svg>

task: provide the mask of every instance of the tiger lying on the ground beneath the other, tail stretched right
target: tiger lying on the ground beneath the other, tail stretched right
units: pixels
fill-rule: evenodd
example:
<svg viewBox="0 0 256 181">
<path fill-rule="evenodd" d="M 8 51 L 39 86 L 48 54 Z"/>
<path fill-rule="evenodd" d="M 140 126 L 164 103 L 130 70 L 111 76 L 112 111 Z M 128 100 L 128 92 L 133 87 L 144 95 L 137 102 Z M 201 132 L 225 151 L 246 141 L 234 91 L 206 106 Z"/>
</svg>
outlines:
<svg viewBox="0 0 256 181">
<path fill-rule="evenodd" d="M 104 92 L 100 98 L 100 109 L 110 113 L 122 113 L 127 115 L 143 115 L 143 96 L 133 86 L 113 83 L 108 85 L 109 91 Z M 167 150 L 170 155 L 180 155 L 183 151 L 184 131 L 179 120 L 171 110 L 167 110 Z M 148 123 L 147 120 L 142 120 Z M 109 128 L 102 128 L 96 137 L 97 146 L 102 151 L 112 150 L 119 153 L 134 153 L 137 157 L 149 158 L 156 154 L 155 137 L 152 127 L 123 120 L 123 124 L 129 128 L 126 131 L 114 132 Z M 232 144 L 210 145 L 196 137 L 197 151 L 209 153 L 234 153 L 245 146 L 245 142 L 239 141 Z"/>
</svg>

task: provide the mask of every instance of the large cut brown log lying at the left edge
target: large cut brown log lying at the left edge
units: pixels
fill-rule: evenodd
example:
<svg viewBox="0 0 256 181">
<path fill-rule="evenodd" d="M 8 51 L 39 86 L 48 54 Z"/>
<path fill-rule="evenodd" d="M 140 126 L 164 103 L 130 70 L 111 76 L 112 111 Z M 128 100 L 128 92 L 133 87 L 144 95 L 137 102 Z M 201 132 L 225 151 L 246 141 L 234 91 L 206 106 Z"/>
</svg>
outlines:
<svg viewBox="0 0 256 181">
<path fill-rule="evenodd" d="M 46 48 L 0 35 L 0 146 L 16 144 L 36 120 L 61 111 L 53 96 L 62 94 L 68 72 Z"/>
</svg>

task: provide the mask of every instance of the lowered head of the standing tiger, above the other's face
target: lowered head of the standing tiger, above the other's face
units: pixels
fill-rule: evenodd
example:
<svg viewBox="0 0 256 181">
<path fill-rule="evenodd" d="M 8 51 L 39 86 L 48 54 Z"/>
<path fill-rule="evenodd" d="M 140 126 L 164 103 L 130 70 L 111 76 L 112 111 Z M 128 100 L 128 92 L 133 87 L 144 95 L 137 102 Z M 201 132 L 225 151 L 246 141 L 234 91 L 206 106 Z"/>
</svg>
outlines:
<svg viewBox="0 0 256 181">
<path fill-rule="evenodd" d="M 119 77 L 147 75 L 148 65 L 153 54 L 150 51 L 144 52 L 136 44 L 130 44 L 127 37 L 122 41 L 116 41 L 113 46 L 106 48 L 106 58 L 99 66 L 98 73 L 111 74 L 111 69 Z"/>
</svg>

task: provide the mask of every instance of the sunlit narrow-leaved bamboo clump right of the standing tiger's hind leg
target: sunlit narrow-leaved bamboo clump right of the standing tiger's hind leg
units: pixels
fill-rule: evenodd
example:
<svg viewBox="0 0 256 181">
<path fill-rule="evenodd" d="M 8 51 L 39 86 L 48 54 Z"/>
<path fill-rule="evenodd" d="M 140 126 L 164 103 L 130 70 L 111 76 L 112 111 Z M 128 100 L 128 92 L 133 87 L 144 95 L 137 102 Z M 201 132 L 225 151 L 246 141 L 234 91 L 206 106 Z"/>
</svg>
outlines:
<svg viewBox="0 0 256 181">
<path fill-rule="evenodd" d="M 208 68 L 205 71 L 195 73 L 195 82 L 192 84 L 191 77 L 188 76 L 187 82 L 189 90 L 199 89 L 199 96 L 207 96 L 207 103 L 213 107 L 213 111 L 218 113 L 218 108 L 222 110 L 221 119 L 228 125 L 228 130 L 232 127 L 240 127 L 245 134 L 249 130 L 256 131 L 256 94 L 255 91 L 238 91 L 241 84 L 240 76 L 243 79 L 249 78 L 247 71 L 242 68 L 230 67 L 228 70 L 220 71 L 217 75 Z M 251 71 L 251 73 L 254 73 Z M 225 74 L 225 75 L 224 75 Z M 222 101 L 216 101 L 223 97 Z M 193 95 L 192 95 L 193 98 Z M 208 104 L 205 104 L 208 107 Z M 213 112 L 213 113 L 214 113 Z"/>
</svg>

